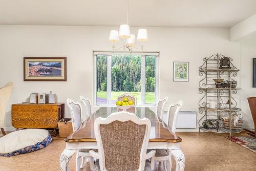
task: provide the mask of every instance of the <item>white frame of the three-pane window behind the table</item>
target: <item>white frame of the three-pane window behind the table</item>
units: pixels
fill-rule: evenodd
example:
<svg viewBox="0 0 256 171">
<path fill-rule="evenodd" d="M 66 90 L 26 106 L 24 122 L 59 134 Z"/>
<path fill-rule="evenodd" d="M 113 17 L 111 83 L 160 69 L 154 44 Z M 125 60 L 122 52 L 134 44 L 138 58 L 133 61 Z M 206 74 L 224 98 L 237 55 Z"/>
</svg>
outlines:
<svg viewBox="0 0 256 171">
<path fill-rule="evenodd" d="M 94 61 L 94 91 L 93 91 L 93 104 L 94 106 L 115 106 L 115 104 L 111 104 L 111 57 L 112 55 L 124 55 L 124 54 L 131 54 L 131 52 L 126 51 L 93 51 L 93 61 Z M 160 56 L 160 52 L 132 52 L 133 55 L 140 55 L 141 56 L 141 104 L 137 106 L 156 106 L 157 101 L 159 99 L 159 67 L 158 67 L 158 60 Z M 97 99 L 97 55 L 105 55 L 107 61 L 107 88 L 106 88 L 106 104 L 98 104 L 96 102 Z M 156 84 L 155 84 L 155 103 L 145 103 L 145 57 L 146 56 L 156 56 Z M 110 82 L 110 83 L 109 83 Z"/>
</svg>

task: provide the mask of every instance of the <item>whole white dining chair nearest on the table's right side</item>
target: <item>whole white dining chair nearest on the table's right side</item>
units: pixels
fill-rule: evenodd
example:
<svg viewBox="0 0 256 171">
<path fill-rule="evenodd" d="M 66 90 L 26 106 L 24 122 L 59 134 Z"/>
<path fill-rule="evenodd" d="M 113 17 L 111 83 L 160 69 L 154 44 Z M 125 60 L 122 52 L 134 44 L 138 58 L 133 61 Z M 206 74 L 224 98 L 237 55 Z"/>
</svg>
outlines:
<svg viewBox="0 0 256 171">
<path fill-rule="evenodd" d="M 176 131 L 176 120 L 177 115 L 179 114 L 180 108 L 182 106 L 182 100 L 179 100 L 177 103 L 170 104 L 168 111 L 167 111 L 167 126 L 170 131 L 172 131 L 175 134 Z M 151 151 L 148 150 L 148 152 Z M 164 163 L 165 170 L 171 170 L 172 168 L 172 155 L 169 155 L 171 153 L 173 156 L 175 156 L 176 160 L 176 171 L 180 170 L 179 168 L 179 162 L 177 161 L 177 156 L 175 152 L 172 153 L 172 151 L 169 151 L 169 149 L 156 149 L 156 155 L 155 160 L 158 162 Z M 178 155 L 178 154 L 177 154 Z M 169 168 L 168 163 L 169 162 Z"/>
</svg>

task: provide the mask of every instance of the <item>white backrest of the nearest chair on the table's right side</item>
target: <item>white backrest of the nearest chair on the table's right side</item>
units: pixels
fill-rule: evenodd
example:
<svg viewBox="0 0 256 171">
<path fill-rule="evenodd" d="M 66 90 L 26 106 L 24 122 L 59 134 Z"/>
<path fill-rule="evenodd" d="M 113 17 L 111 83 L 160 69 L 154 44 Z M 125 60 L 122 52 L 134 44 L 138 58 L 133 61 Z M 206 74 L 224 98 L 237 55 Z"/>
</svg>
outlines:
<svg viewBox="0 0 256 171">
<path fill-rule="evenodd" d="M 177 115 L 179 114 L 180 108 L 182 106 L 182 100 L 179 100 L 175 104 L 170 104 L 168 112 L 167 112 L 167 125 L 173 133 L 176 131 L 176 120 Z"/>
</svg>

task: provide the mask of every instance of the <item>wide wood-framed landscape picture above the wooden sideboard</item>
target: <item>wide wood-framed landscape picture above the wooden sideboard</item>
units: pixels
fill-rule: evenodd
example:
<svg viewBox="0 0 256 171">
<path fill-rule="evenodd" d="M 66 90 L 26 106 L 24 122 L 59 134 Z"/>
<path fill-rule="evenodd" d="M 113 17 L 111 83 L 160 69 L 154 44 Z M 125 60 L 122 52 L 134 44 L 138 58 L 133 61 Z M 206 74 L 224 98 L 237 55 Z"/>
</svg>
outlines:
<svg viewBox="0 0 256 171">
<path fill-rule="evenodd" d="M 67 81 L 67 58 L 24 57 L 24 81 Z"/>
</svg>

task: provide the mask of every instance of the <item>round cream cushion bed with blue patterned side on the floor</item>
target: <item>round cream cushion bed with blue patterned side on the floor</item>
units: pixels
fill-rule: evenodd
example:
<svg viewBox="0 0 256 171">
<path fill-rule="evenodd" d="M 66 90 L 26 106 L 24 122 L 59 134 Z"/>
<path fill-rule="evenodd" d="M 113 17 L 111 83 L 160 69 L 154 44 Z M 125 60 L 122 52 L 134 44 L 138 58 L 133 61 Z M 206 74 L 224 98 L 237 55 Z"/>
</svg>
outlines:
<svg viewBox="0 0 256 171">
<path fill-rule="evenodd" d="M 52 141 L 47 130 L 15 131 L 0 138 L 0 156 L 16 156 L 46 147 Z"/>
</svg>

